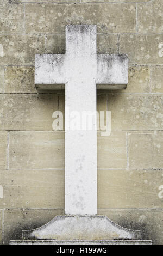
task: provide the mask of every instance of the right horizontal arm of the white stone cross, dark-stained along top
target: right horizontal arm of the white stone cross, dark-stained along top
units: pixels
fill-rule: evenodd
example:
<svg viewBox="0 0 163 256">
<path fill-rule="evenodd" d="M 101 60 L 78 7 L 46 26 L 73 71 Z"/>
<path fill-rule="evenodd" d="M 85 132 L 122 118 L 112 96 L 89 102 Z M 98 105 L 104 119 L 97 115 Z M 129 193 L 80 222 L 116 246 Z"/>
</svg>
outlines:
<svg viewBox="0 0 163 256">
<path fill-rule="evenodd" d="M 96 83 L 116 85 L 127 84 L 127 59 L 126 54 L 97 54 Z"/>
</svg>

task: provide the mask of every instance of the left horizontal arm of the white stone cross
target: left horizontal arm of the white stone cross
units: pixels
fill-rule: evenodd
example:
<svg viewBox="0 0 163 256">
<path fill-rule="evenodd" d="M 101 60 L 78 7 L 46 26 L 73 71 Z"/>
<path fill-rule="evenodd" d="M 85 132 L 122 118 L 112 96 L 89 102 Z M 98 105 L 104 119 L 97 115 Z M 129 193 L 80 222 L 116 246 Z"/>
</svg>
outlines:
<svg viewBox="0 0 163 256">
<path fill-rule="evenodd" d="M 35 54 L 35 84 L 65 83 L 65 54 Z"/>
</svg>

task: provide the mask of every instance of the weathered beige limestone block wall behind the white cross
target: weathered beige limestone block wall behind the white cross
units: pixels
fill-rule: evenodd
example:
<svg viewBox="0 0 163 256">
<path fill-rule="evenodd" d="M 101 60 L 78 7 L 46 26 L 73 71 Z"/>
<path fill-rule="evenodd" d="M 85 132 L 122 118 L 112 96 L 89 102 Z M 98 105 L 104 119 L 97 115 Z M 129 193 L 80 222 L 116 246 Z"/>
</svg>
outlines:
<svg viewBox="0 0 163 256">
<path fill-rule="evenodd" d="M 98 214 L 163 245 L 162 0 L 0 0 L 0 242 L 64 214 L 65 92 L 37 92 L 35 53 L 65 53 L 65 25 L 97 25 L 97 53 L 127 53 L 127 90 L 97 92 Z M 3 193 L 2 193 L 3 190 Z"/>
</svg>

